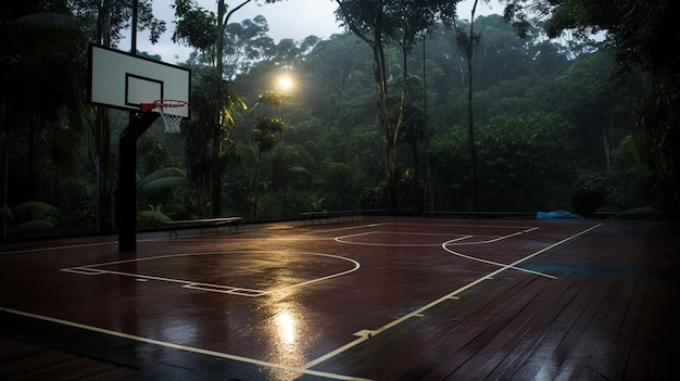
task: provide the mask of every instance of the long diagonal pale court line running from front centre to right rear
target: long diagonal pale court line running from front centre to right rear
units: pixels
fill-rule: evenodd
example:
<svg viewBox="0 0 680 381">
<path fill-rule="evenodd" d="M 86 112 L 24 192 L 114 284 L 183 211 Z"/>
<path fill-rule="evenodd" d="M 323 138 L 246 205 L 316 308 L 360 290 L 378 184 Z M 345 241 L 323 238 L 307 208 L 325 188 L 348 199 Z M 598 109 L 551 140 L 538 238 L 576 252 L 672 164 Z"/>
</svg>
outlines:
<svg viewBox="0 0 680 381">
<path fill-rule="evenodd" d="M 572 240 L 572 239 L 575 239 L 577 237 L 585 234 L 587 232 L 589 232 L 589 231 L 591 231 L 591 230 L 593 230 L 593 229 L 595 229 L 595 228 L 597 228 L 600 226 L 602 226 L 602 224 L 597 224 L 597 225 L 591 226 L 590 228 L 588 228 L 585 230 L 582 230 L 582 231 L 580 231 L 580 232 L 578 232 L 578 233 L 576 233 L 574 236 L 569 236 L 569 237 L 565 238 L 564 240 L 562 240 L 559 242 L 553 243 L 553 244 L 551 244 L 547 247 L 543 247 L 543 249 L 541 249 L 541 250 L 539 250 L 539 251 L 537 251 L 534 253 L 531 253 L 531 254 L 525 256 L 524 258 L 517 259 L 517 261 L 513 262 L 509 265 L 505 265 L 505 266 L 499 268 L 495 271 L 492 271 L 492 272 L 489 272 L 489 274 L 487 274 L 484 276 L 481 276 L 477 280 L 475 280 L 475 281 L 473 281 L 470 283 L 467 283 L 467 284 L 463 285 L 462 288 L 459 288 L 459 289 L 457 289 L 457 290 L 455 290 L 453 292 L 450 292 L 450 293 L 445 294 L 444 296 L 442 296 L 442 297 L 440 297 L 440 299 L 438 299 L 438 300 L 436 300 L 436 301 L 433 301 L 433 302 L 431 302 L 431 303 L 429 303 L 429 304 L 427 304 L 427 305 L 425 305 L 425 306 L 423 306 L 423 307 L 420 307 L 420 308 L 418 308 L 418 309 L 416 309 L 416 310 L 414 310 L 414 312 L 412 312 L 410 314 L 406 314 L 406 315 L 402 316 L 399 319 L 392 320 L 388 325 L 382 326 L 381 328 L 379 328 L 377 330 L 370 330 L 372 336 L 375 336 L 376 334 L 385 332 L 385 331 L 389 330 L 390 328 L 399 326 L 402 322 L 404 322 L 404 321 L 406 321 L 406 320 L 408 320 L 408 319 L 411 319 L 413 317 L 423 315 L 426 310 L 428 310 L 428 309 L 430 309 L 430 308 L 432 308 L 432 307 L 435 307 L 435 306 L 437 306 L 437 305 L 439 305 L 439 304 L 441 304 L 443 302 L 450 302 L 451 303 L 451 300 L 454 299 L 457 294 L 462 293 L 463 291 L 471 289 L 473 287 L 481 283 L 484 280 L 488 280 L 491 277 L 494 277 L 494 276 L 496 276 L 496 275 L 499 275 L 499 274 L 501 274 L 501 272 L 503 272 L 503 271 L 505 271 L 507 269 L 512 269 L 513 267 L 519 265 L 522 262 L 529 261 L 529 259 L 533 258 L 537 255 L 545 253 L 546 251 L 552 250 L 552 249 L 554 249 L 554 247 L 556 247 L 556 246 L 558 246 L 558 245 L 561 245 L 563 243 L 565 243 L 565 242 L 568 242 L 568 241 L 570 241 L 570 240 Z M 350 348 L 352 348 L 352 347 L 354 347 L 354 346 L 365 342 L 366 340 L 370 340 L 370 336 L 366 335 L 366 336 L 361 336 L 358 339 L 355 339 L 354 341 L 351 341 L 351 342 L 344 344 L 343 346 L 341 346 L 341 347 L 339 347 L 339 348 L 337 348 L 335 351 L 331 351 L 331 352 L 327 353 L 326 355 L 324 355 L 322 357 L 318 357 L 318 358 L 316 358 L 316 359 L 305 364 L 304 367 L 305 368 L 311 368 L 311 367 L 316 366 L 316 365 L 318 365 L 320 363 L 324 363 L 325 360 L 327 360 L 329 358 L 332 358 L 332 357 L 343 353 L 344 351 L 350 350 Z"/>
</svg>

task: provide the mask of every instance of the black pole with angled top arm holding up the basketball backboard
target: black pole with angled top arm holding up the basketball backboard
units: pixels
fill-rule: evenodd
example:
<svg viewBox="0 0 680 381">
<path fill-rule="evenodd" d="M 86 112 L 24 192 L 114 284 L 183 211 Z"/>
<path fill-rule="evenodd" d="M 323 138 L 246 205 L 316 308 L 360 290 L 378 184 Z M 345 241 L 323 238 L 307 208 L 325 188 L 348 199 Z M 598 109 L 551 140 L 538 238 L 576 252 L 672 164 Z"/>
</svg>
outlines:
<svg viewBox="0 0 680 381">
<path fill-rule="evenodd" d="M 137 139 L 161 114 L 137 114 L 118 141 L 118 251 L 137 250 Z"/>
</svg>

